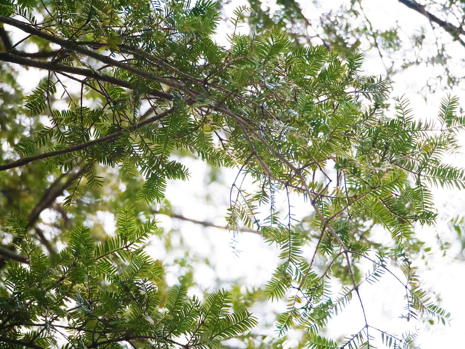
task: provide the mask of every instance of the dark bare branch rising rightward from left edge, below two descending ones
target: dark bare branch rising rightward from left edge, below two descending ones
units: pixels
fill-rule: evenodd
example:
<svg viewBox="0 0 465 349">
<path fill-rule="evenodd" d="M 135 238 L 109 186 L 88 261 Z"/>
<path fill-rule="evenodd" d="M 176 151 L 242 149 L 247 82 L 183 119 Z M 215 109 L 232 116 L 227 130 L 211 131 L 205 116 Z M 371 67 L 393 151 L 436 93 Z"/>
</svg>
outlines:
<svg viewBox="0 0 465 349">
<path fill-rule="evenodd" d="M 134 125 L 130 125 L 129 127 L 127 127 L 126 129 L 124 130 L 121 130 L 121 131 L 118 131 L 118 132 L 114 132 L 112 134 L 109 134 L 105 137 L 101 137 L 101 138 L 97 138 L 97 139 L 93 139 L 91 141 L 88 141 L 88 142 L 85 142 L 85 143 L 81 143 L 81 144 L 77 144 L 77 145 L 72 145 L 72 146 L 69 146 L 67 148 L 64 148 L 64 149 L 60 149 L 60 150 L 56 150 L 56 151 L 50 151 L 48 153 L 43 153 L 43 154 L 38 154 L 38 155 L 34 155 L 34 156 L 31 156 L 31 157 L 28 157 L 28 158 L 21 158 L 19 160 L 16 160 L 16 161 L 13 161 L 13 162 L 10 162 L 8 164 L 4 164 L 4 165 L 0 165 L 0 171 L 5 171 L 5 170 L 8 170 L 10 168 L 15 168 L 15 167 L 19 167 L 19 166 L 24 166 L 26 164 L 29 164 L 30 162 L 33 162 L 33 161 L 36 161 L 36 160 L 41 160 L 41 159 L 45 159 L 45 158 L 51 158 L 53 156 L 57 156 L 57 155 L 62 155 L 62 154 L 67 154 L 67 153 L 71 153 L 73 151 L 80 151 L 82 149 L 86 149 L 92 145 L 97 145 L 97 144 L 100 144 L 100 143 L 105 143 L 105 142 L 108 142 L 110 140 L 113 140 L 115 138 L 118 138 L 120 136 L 122 136 L 123 134 L 125 134 L 126 132 L 133 132 L 135 130 L 137 130 L 139 127 L 141 126 L 145 126 L 145 125 L 148 125 L 148 124 L 151 124 L 153 123 L 154 121 L 157 121 L 159 119 L 162 119 L 164 118 L 166 115 L 168 115 L 169 113 L 173 112 L 174 108 L 171 108 L 171 109 L 168 109 L 166 110 L 165 112 L 162 112 L 158 115 L 155 115 L 151 118 L 148 118 L 144 121 L 141 121 L 140 123 L 137 123 L 137 124 L 134 124 Z"/>
</svg>

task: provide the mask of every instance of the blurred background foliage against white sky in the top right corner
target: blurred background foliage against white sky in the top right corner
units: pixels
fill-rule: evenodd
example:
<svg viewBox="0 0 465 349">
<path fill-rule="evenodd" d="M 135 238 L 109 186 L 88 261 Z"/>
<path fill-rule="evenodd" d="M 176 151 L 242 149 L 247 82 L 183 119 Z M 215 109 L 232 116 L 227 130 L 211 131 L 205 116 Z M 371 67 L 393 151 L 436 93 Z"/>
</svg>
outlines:
<svg viewBox="0 0 465 349">
<path fill-rule="evenodd" d="M 419 77 L 425 97 L 445 87 L 463 87 L 462 0 L 247 2 L 255 13 L 247 20 L 258 31 L 279 26 L 296 45 L 319 43 L 342 56 L 353 50 L 370 52 L 378 56 L 380 73 L 393 82 L 399 73 L 418 76 L 428 69 L 429 74 Z"/>
</svg>

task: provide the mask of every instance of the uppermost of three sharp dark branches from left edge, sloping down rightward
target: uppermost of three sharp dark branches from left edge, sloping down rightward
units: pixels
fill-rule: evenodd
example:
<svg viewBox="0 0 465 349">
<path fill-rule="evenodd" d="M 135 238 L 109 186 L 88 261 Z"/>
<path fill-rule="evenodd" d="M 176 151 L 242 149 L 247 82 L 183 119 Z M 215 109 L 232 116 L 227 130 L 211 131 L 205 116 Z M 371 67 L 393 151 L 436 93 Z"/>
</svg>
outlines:
<svg viewBox="0 0 465 349">
<path fill-rule="evenodd" d="M 111 59 L 110 57 L 104 56 L 104 55 L 102 55 L 100 53 L 96 53 L 96 52 L 94 52 L 92 50 L 88 50 L 84 46 L 82 46 L 82 45 L 80 45 L 80 44 L 78 44 L 78 43 L 76 43 L 74 41 L 57 38 L 57 37 L 55 37 L 53 35 L 44 33 L 42 31 L 34 28 L 33 26 L 31 26 L 31 25 L 29 25 L 27 23 L 21 22 L 19 20 L 14 20 L 13 18 L 0 16 L 0 23 L 6 23 L 6 24 L 9 24 L 10 26 L 15 26 L 15 27 L 25 31 L 26 33 L 36 35 L 36 36 L 38 36 L 40 38 L 43 38 L 45 40 L 48 40 L 48 41 L 53 42 L 55 44 L 58 44 L 61 47 L 67 48 L 69 50 L 85 54 L 86 56 L 97 59 L 100 62 L 106 63 L 106 64 L 108 64 L 110 66 L 117 66 L 117 67 L 119 67 L 121 69 L 124 69 L 124 70 L 126 70 L 128 72 L 132 72 L 133 74 L 136 74 L 136 75 L 138 75 L 138 76 L 140 76 L 142 78 L 145 78 L 145 79 L 148 79 L 148 80 L 151 80 L 151 81 L 158 81 L 158 82 L 161 82 L 161 83 L 166 82 L 166 79 L 160 78 L 159 76 L 153 75 L 153 74 L 151 74 L 149 72 L 144 72 L 144 71 L 142 71 L 140 69 L 136 69 L 133 66 L 122 63 L 122 62 L 120 62 L 118 60 Z M 2 58 L 0 57 L 0 59 L 2 59 Z M 15 62 L 13 62 L 13 63 L 15 63 Z M 20 64 L 22 64 L 22 63 L 20 63 Z M 69 71 L 67 71 L 67 72 L 69 72 Z M 97 78 L 95 78 L 95 79 L 97 79 Z M 100 80 L 103 80 L 103 79 L 100 79 Z M 105 81 L 105 80 L 103 80 L 103 81 Z M 174 96 L 171 93 L 161 92 L 161 91 L 158 91 L 158 90 L 153 90 L 150 93 L 153 94 L 153 95 L 157 95 L 159 97 L 165 98 L 165 99 L 173 99 L 174 98 Z"/>
</svg>

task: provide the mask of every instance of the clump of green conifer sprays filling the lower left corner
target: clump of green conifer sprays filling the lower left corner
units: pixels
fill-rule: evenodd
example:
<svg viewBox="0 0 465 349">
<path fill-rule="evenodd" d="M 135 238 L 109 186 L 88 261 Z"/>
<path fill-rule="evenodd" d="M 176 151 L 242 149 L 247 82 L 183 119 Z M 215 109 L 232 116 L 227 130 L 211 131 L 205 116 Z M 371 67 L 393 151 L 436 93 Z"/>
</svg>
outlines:
<svg viewBox="0 0 465 349">
<path fill-rule="evenodd" d="M 16 213 L 8 222 L 27 241 L 27 222 Z M 136 227 L 134 212 L 126 208 L 118 215 L 118 234 L 100 244 L 84 226 L 69 232 L 68 246 L 53 258 L 29 241 L 23 244 L 28 267 L 12 263 L 4 279 L 2 348 L 107 348 L 150 341 L 160 348 L 206 349 L 251 329 L 256 319 L 246 309 L 230 314 L 226 291 L 200 304 L 174 286 L 162 307 L 155 282 L 163 267 L 140 247 L 155 223 Z M 66 325 L 58 321 L 64 319 Z M 176 341 L 179 336 L 185 343 Z"/>
</svg>

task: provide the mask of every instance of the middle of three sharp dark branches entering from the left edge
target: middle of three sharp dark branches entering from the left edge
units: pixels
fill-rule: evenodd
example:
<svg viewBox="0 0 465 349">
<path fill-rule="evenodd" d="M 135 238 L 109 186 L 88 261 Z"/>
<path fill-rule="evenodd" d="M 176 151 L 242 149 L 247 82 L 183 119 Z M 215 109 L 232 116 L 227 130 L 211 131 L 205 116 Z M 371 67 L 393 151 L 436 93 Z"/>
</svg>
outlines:
<svg viewBox="0 0 465 349">
<path fill-rule="evenodd" d="M 7 53 L 7 52 L 0 52 L 0 60 L 5 62 L 11 62 L 20 64 L 21 66 L 31 66 L 33 68 L 45 69 L 51 72 L 68 72 L 71 74 L 78 74 L 82 76 L 86 76 L 87 78 L 92 78 L 95 80 L 105 81 L 113 85 L 118 85 L 125 88 L 134 89 L 134 85 L 121 80 L 114 78 L 113 76 L 102 74 L 97 72 L 96 70 L 90 70 L 85 68 L 79 68 L 74 66 L 65 66 L 63 64 L 52 63 L 52 62 L 43 62 L 40 60 L 35 59 L 28 59 L 24 57 L 20 57 L 16 54 Z M 171 93 L 161 92 L 158 90 L 149 90 L 146 93 L 152 94 L 154 96 L 166 98 L 166 99 L 173 99 L 173 95 Z"/>
</svg>

